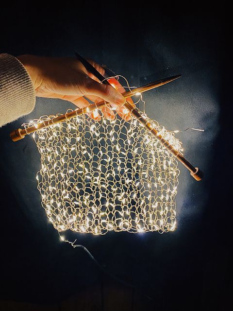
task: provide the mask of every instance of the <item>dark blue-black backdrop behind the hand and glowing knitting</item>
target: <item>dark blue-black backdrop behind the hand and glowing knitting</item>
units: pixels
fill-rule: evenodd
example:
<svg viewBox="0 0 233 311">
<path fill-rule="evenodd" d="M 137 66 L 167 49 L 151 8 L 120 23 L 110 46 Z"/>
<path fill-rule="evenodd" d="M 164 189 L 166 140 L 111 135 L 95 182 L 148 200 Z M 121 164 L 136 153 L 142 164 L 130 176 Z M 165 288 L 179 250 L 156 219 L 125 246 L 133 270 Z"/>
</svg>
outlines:
<svg viewBox="0 0 233 311">
<path fill-rule="evenodd" d="M 216 11 L 192 14 L 99 2 L 52 13 L 1 8 L 0 52 L 73 56 L 77 50 L 133 86 L 182 74 L 145 94 L 146 112 L 167 129 L 205 130 L 177 134 L 184 155 L 205 179 L 196 182 L 180 165 L 175 232 L 75 235 L 106 271 L 133 287 L 123 285 L 82 249 L 59 240 L 40 205 L 35 180 L 40 158 L 33 139 L 9 139 L 24 121 L 73 108 L 37 99 L 29 116 L 0 128 L 0 310 L 227 309 L 232 293 L 228 28 L 220 4 Z"/>
</svg>

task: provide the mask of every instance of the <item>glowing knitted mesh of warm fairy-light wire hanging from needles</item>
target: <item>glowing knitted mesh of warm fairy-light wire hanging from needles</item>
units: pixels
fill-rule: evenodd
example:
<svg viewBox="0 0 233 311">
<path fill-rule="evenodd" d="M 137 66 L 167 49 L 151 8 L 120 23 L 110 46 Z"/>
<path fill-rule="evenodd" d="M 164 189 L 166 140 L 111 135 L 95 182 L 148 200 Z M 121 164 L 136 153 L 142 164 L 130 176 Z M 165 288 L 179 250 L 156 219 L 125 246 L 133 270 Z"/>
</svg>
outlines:
<svg viewBox="0 0 233 311">
<path fill-rule="evenodd" d="M 174 133 L 147 119 L 181 151 Z M 59 232 L 175 229 L 178 163 L 137 120 L 96 122 L 82 115 L 37 130 L 33 139 L 41 154 L 36 179 L 42 205 Z"/>
</svg>

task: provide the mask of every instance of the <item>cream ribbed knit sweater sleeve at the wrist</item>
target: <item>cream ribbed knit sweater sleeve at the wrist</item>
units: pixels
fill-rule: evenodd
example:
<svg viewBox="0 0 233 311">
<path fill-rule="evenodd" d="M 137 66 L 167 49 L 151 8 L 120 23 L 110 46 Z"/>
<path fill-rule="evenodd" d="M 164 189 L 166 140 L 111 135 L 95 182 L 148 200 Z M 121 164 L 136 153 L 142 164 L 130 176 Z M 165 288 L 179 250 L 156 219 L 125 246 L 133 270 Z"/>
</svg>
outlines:
<svg viewBox="0 0 233 311">
<path fill-rule="evenodd" d="M 0 126 L 30 113 L 35 105 L 33 82 L 20 61 L 0 54 Z"/>
</svg>

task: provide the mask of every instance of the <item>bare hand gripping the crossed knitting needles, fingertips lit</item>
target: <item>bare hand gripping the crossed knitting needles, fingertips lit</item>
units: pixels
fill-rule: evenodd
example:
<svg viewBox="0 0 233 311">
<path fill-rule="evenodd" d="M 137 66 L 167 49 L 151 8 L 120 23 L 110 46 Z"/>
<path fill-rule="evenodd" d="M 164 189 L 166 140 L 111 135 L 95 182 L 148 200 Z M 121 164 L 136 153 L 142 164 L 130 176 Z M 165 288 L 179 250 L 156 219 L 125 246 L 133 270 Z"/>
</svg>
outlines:
<svg viewBox="0 0 233 311">
<path fill-rule="evenodd" d="M 69 101 L 79 108 L 89 105 L 86 99 L 94 103 L 105 100 L 116 108 L 119 116 L 130 120 L 129 111 L 124 108 L 125 98 L 120 94 L 124 88 L 116 79 L 110 79 L 110 83 L 118 91 L 108 85 L 101 84 L 92 74 L 88 73 L 83 64 L 75 58 L 53 58 L 34 55 L 21 55 L 17 57 L 24 65 L 33 81 L 35 95 L 38 97 L 60 98 Z M 89 62 L 104 74 L 104 69 L 94 61 Z M 84 98 L 84 97 L 86 98 Z M 132 99 L 129 99 L 133 103 Z M 115 119 L 112 109 L 107 106 L 101 108 L 105 118 Z M 92 111 L 89 116 L 100 121 L 99 112 Z"/>
</svg>

